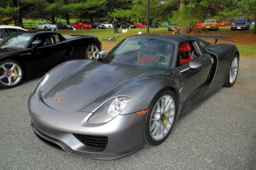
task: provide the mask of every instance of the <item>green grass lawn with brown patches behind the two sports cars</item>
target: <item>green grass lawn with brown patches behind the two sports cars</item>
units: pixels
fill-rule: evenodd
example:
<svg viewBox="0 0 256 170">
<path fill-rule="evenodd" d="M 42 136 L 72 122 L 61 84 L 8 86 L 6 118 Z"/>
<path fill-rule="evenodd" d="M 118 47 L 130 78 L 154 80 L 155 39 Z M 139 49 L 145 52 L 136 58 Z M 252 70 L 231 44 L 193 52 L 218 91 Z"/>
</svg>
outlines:
<svg viewBox="0 0 256 170">
<path fill-rule="evenodd" d="M 118 29 L 120 39 L 127 38 L 129 36 L 133 36 L 141 32 L 141 34 L 146 34 L 147 29 L 127 29 L 127 32 L 122 33 L 122 29 Z M 102 44 L 110 43 L 110 44 L 117 44 L 118 41 L 111 42 L 102 40 L 102 38 L 116 36 L 113 33 L 113 29 L 77 29 L 76 31 L 73 30 L 58 30 L 63 35 L 70 35 L 70 34 L 91 34 L 98 36 Z M 172 34 L 172 31 L 168 31 L 167 28 L 159 27 L 149 30 L 150 34 Z M 253 28 L 249 31 L 230 31 L 230 26 L 227 27 L 220 27 L 219 31 L 197 31 L 191 32 L 190 34 L 216 34 L 221 36 L 228 36 L 230 38 L 236 39 L 238 43 L 231 42 L 231 41 L 220 41 L 220 43 L 234 43 L 241 55 L 256 57 L 256 34 L 252 34 Z"/>
</svg>

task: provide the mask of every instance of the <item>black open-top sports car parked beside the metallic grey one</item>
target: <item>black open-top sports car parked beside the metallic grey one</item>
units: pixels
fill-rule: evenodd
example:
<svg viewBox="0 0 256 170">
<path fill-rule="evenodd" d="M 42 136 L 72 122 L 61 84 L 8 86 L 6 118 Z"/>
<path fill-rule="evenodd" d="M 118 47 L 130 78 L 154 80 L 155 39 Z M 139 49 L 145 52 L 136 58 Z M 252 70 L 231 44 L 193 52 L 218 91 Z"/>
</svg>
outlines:
<svg viewBox="0 0 256 170">
<path fill-rule="evenodd" d="M 45 73 L 66 60 L 92 59 L 100 49 L 95 36 L 17 32 L 0 43 L 0 87 L 15 87 L 25 76 Z"/>
</svg>

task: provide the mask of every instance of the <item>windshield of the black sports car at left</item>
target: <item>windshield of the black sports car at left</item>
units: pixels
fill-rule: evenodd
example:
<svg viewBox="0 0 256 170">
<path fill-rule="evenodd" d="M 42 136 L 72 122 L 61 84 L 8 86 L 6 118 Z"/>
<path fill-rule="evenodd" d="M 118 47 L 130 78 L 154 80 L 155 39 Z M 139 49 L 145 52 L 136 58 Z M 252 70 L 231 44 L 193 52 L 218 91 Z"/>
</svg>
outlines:
<svg viewBox="0 0 256 170">
<path fill-rule="evenodd" d="M 26 48 L 32 36 L 29 33 L 12 34 L 0 43 L 0 48 Z"/>
</svg>

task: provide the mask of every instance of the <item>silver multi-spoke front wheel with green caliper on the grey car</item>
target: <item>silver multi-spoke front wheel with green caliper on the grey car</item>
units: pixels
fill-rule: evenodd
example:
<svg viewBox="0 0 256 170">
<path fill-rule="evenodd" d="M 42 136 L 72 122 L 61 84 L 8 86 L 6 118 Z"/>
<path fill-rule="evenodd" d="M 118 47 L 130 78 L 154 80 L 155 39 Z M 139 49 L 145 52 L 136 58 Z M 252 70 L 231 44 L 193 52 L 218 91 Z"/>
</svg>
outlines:
<svg viewBox="0 0 256 170">
<path fill-rule="evenodd" d="M 145 122 L 145 143 L 160 145 L 168 138 L 177 113 L 177 99 L 171 90 L 157 94 L 150 104 Z"/>
</svg>

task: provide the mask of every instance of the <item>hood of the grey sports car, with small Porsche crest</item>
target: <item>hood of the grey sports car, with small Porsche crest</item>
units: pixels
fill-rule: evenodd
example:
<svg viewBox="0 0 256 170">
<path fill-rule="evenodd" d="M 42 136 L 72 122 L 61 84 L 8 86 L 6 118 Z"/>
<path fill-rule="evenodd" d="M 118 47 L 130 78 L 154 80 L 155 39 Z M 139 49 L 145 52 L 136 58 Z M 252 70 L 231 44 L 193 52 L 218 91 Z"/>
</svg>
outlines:
<svg viewBox="0 0 256 170">
<path fill-rule="evenodd" d="M 56 76 L 56 79 L 50 73 L 52 78 L 40 88 L 40 94 L 49 107 L 68 112 L 81 111 L 95 103 L 100 106 L 130 81 L 139 80 L 152 72 L 138 67 L 102 64 L 97 60 L 72 73 L 66 74 L 65 71 L 67 68 L 63 68 L 63 75 L 61 78 Z"/>
</svg>

